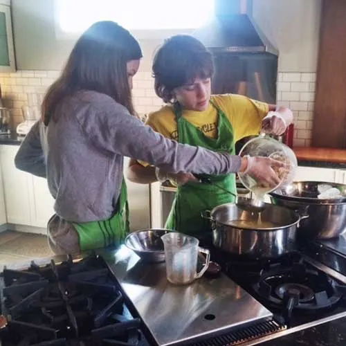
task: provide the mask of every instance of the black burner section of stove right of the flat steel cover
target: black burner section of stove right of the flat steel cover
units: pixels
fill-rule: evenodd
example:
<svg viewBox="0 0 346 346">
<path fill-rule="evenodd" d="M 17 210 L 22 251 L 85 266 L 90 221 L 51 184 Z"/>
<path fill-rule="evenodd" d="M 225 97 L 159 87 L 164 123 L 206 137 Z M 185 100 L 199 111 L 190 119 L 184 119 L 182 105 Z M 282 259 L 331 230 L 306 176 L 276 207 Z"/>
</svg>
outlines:
<svg viewBox="0 0 346 346">
<path fill-rule="evenodd" d="M 314 266 L 302 253 L 251 259 L 218 252 L 214 260 L 288 328 L 346 312 L 345 283 Z"/>
</svg>

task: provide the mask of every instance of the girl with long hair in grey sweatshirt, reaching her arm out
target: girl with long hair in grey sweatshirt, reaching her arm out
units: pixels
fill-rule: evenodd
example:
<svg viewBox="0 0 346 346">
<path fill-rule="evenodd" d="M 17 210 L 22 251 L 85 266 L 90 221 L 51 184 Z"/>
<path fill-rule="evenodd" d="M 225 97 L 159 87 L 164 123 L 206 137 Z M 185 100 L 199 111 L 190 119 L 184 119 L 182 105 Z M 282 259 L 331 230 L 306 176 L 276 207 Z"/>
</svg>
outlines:
<svg viewBox="0 0 346 346">
<path fill-rule="evenodd" d="M 161 173 L 246 169 L 246 159 L 176 143 L 131 116 L 132 78 L 141 57 L 127 30 L 111 21 L 93 24 L 48 89 L 42 119 L 19 148 L 16 166 L 46 177 L 55 199 L 55 215 L 48 221 L 55 253 L 122 242 L 129 231 L 124 156 Z"/>
</svg>

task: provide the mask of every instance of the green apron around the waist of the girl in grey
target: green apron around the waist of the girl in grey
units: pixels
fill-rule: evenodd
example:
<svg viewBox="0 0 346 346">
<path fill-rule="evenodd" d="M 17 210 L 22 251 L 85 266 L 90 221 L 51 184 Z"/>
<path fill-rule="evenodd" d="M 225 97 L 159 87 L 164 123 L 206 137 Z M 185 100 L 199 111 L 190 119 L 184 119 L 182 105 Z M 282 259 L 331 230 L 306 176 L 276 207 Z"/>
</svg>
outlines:
<svg viewBox="0 0 346 346">
<path fill-rule="evenodd" d="M 129 233 L 129 205 L 127 203 L 125 180 L 122 179 L 118 212 L 104 221 L 91 221 L 80 224 L 74 222 L 73 226 L 78 232 L 81 251 L 120 244 Z"/>
</svg>

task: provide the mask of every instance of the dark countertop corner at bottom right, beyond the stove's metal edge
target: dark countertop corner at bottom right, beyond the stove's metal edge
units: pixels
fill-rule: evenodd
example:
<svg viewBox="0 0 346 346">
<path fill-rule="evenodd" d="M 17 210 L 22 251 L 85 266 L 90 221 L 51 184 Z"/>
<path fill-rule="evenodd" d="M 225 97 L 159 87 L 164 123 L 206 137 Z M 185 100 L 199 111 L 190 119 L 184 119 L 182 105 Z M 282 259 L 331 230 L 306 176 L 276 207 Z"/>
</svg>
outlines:
<svg viewBox="0 0 346 346">
<path fill-rule="evenodd" d="M 322 325 L 276 338 L 260 346 L 345 346 L 346 345 L 346 318 L 338 318 Z"/>
</svg>

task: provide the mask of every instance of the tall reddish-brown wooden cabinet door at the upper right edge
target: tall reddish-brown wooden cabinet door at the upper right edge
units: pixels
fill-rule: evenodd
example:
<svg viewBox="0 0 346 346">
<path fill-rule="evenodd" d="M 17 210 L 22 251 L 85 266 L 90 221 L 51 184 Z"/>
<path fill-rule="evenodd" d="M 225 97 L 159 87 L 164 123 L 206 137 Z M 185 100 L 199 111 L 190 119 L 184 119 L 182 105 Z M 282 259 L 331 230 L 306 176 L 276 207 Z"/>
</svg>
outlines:
<svg viewBox="0 0 346 346">
<path fill-rule="evenodd" d="M 346 147 L 346 1 L 323 0 L 313 147 Z"/>
</svg>

